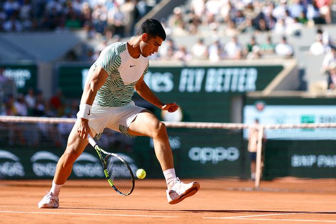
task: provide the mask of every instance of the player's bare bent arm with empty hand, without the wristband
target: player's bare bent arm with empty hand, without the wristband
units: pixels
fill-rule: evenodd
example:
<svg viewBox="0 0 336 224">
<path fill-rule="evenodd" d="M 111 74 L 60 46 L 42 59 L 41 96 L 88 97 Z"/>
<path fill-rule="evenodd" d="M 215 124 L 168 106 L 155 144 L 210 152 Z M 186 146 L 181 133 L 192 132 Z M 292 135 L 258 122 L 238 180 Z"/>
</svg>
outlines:
<svg viewBox="0 0 336 224">
<path fill-rule="evenodd" d="M 153 92 L 149 89 L 144 81 L 144 75 L 141 76 L 137 84 L 135 84 L 134 89 L 139 93 L 139 95 L 147 100 L 149 103 L 160 108 L 161 110 L 168 112 L 175 112 L 178 109 L 176 103 L 163 103 Z"/>
</svg>

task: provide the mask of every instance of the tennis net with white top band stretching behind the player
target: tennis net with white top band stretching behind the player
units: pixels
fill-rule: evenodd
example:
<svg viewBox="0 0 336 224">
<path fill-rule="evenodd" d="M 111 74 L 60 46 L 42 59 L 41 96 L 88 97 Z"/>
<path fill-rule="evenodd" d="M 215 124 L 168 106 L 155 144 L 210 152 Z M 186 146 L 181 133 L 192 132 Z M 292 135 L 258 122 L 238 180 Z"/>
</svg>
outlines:
<svg viewBox="0 0 336 224">
<path fill-rule="evenodd" d="M 50 185 L 74 122 L 0 116 L 0 184 Z M 335 191 L 336 124 L 165 124 L 176 174 L 182 180 L 202 180 L 204 188 L 227 190 Z M 164 177 L 149 137 L 133 139 L 105 129 L 97 143 L 124 157 L 134 173 L 138 168 L 147 171 L 137 186 L 165 187 L 165 181 L 154 181 Z M 248 151 L 251 145 L 256 155 Z M 74 163 L 69 180 L 67 184 L 74 186 L 107 186 L 91 146 Z"/>
</svg>

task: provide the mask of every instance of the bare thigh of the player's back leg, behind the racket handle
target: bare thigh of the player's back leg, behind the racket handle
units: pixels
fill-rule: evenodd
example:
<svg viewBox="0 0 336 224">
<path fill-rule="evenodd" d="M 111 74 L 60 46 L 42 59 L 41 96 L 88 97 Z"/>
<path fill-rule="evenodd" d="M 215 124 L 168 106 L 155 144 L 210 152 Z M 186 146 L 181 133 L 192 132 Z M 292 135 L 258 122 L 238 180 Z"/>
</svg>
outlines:
<svg viewBox="0 0 336 224">
<path fill-rule="evenodd" d="M 70 154 L 72 156 L 77 156 L 79 157 L 85 147 L 88 144 L 87 139 L 83 139 L 78 133 L 77 133 L 77 128 L 78 128 L 78 122 L 76 121 L 75 125 L 73 126 L 66 145 L 65 153 Z M 92 133 L 90 132 L 92 135 Z"/>
</svg>

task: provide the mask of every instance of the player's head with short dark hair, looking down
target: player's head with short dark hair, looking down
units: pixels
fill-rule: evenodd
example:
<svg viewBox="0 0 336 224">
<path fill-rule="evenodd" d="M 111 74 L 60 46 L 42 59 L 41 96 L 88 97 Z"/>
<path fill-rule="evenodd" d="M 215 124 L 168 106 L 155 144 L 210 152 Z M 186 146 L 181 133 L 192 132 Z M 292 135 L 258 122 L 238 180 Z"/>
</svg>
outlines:
<svg viewBox="0 0 336 224">
<path fill-rule="evenodd" d="M 147 19 L 141 23 L 137 36 L 141 37 L 140 50 L 144 57 L 158 51 L 159 46 L 166 40 L 166 32 L 161 23 L 154 19 Z"/>
</svg>

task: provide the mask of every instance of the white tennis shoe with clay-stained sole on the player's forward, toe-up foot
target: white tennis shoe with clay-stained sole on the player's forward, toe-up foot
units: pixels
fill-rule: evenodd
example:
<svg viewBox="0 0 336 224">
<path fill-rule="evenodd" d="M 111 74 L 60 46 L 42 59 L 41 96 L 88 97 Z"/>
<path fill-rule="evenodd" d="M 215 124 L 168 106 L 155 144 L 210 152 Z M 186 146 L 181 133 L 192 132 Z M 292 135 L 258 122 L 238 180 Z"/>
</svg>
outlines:
<svg viewBox="0 0 336 224">
<path fill-rule="evenodd" d="M 167 199 L 169 204 L 176 204 L 185 198 L 188 198 L 199 190 L 199 182 L 193 181 L 191 183 L 183 183 L 181 180 L 174 183 L 174 185 L 167 190 Z"/>
</svg>

